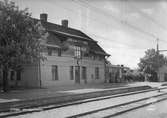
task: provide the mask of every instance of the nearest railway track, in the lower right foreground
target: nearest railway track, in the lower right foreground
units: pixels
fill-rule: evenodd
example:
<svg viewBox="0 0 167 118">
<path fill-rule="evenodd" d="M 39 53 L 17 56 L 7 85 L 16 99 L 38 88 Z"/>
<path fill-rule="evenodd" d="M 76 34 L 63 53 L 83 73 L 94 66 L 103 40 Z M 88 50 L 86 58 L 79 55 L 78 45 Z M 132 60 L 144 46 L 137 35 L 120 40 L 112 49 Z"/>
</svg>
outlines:
<svg viewBox="0 0 167 118">
<path fill-rule="evenodd" d="M 131 102 L 118 104 L 116 106 L 109 106 L 106 108 L 93 110 L 89 112 L 84 112 L 72 116 L 68 116 L 67 118 L 111 118 L 141 107 L 145 107 L 148 105 L 153 105 L 155 103 L 167 100 L 167 93 L 155 95 L 139 100 L 134 100 Z"/>
</svg>

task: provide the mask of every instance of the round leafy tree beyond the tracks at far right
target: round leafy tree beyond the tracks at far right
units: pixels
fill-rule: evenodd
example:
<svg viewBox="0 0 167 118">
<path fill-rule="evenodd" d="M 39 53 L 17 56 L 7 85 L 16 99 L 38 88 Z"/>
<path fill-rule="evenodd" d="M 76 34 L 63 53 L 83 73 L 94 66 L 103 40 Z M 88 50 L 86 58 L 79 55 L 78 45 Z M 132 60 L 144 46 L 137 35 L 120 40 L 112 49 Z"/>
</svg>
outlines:
<svg viewBox="0 0 167 118">
<path fill-rule="evenodd" d="M 158 68 L 166 62 L 167 58 L 163 54 L 158 54 L 155 49 L 148 49 L 145 51 L 145 56 L 140 59 L 138 66 L 140 71 L 148 74 L 153 81 L 156 81 Z"/>
</svg>

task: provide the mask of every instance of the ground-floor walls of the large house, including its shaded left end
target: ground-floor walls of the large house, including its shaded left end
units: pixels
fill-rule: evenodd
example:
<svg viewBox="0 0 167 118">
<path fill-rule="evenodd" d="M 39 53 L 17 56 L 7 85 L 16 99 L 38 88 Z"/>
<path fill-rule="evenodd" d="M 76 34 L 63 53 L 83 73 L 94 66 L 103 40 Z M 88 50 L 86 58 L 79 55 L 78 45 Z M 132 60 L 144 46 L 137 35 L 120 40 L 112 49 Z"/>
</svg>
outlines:
<svg viewBox="0 0 167 118">
<path fill-rule="evenodd" d="M 61 85 L 73 85 L 75 83 L 75 77 L 70 80 L 70 66 L 77 66 L 77 60 L 72 56 L 48 56 L 45 61 L 40 64 L 26 65 L 21 72 L 21 80 L 10 80 L 9 73 L 9 85 L 10 86 L 24 86 L 24 87 L 40 87 L 40 79 L 42 87 L 52 87 Z M 52 65 L 58 66 L 58 78 L 59 80 L 52 80 Z M 104 61 L 93 60 L 91 58 L 84 58 L 79 61 L 79 66 L 85 66 L 87 68 L 87 83 L 103 83 L 104 82 Z M 95 67 L 99 68 L 99 79 L 95 78 Z M 41 70 L 41 72 L 40 72 Z M 74 67 L 75 76 L 75 67 Z M 39 75 L 41 74 L 41 75 Z M 93 75 L 93 78 L 92 78 Z M 80 68 L 80 84 L 85 84 L 85 80 L 82 79 L 82 68 Z"/>
</svg>

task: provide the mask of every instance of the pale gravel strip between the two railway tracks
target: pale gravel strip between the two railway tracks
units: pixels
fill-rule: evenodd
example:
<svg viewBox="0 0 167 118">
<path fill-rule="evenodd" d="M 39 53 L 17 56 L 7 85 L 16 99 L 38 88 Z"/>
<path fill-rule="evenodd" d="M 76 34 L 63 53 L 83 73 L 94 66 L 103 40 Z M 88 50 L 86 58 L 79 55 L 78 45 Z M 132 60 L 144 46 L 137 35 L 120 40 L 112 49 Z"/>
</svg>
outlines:
<svg viewBox="0 0 167 118">
<path fill-rule="evenodd" d="M 167 90 L 163 90 L 163 91 L 167 92 Z M 83 112 L 96 110 L 100 108 L 105 108 L 108 106 L 115 106 L 117 104 L 122 104 L 122 103 L 130 102 L 133 100 L 145 98 L 145 97 L 151 97 L 157 94 L 160 94 L 160 93 L 158 93 L 157 91 L 152 91 L 152 92 L 147 92 L 147 93 L 122 96 L 122 97 L 111 98 L 111 99 L 106 99 L 106 100 L 101 100 L 101 101 L 88 102 L 84 104 L 67 106 L 67 107 L 42 111 L 42 112 L 36 112 L 36 113 L 31 113 L 31 114 L 26 114 L 26 115 L 20 115 L 20 116 L 16 116 L 13 118 L 47 118 L 47 117 L 48 118 L 65 118 L 67 116 L 76 115 L 78 113 L 83 113 Z M 151 99 L 146 102 L 150 102 L 150 101 L 155 101 L 155 99 L 151 97 Z M 132 116 L 130 115 L 125 118 L 136 118 L 136 116 L 135 117 L 132 117 Z M 119 117 L 119 118 L 122 118 L 122 117 Z M 141 118 L 141 117 L 137 117 L 137 118 Z M 143 117 L 143 118 L 147 118 L 147 117 Z"/>
</svg>

